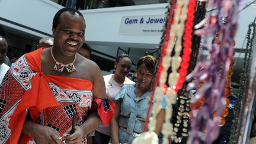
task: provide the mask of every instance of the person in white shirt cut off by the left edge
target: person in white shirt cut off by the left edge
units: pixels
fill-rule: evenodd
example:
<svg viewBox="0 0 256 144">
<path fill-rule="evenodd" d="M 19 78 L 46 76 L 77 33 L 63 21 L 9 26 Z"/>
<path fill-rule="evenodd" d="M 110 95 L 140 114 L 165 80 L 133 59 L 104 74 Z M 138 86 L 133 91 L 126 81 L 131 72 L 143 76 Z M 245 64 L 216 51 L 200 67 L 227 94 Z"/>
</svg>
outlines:
<svg viewBox="0 0 256 144">
<path fill-rule="evenodd" d="M 5 76 L 5 73 L 8 71 L 9 66 L 5 65 L 4 60 L 7 55 L 7 41 L 4 37 L 0 36 L 0 82 Z"/>
</svg>

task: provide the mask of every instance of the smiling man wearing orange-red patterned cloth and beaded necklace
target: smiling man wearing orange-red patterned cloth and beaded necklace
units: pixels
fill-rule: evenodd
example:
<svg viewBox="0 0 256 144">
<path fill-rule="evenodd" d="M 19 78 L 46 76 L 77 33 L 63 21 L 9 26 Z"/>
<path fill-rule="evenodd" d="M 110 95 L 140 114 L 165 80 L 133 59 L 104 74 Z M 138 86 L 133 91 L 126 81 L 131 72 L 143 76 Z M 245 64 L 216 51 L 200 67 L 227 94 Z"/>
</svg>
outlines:
<svg viewBox="0 0 256 144">
<path fill-rule="evenodd" d="M 21 56 L 2 82 L 4 143 L 86 143 L 88 133 L 113 116 L 100 68 L 77 53 L 85 40 L 81 12 L 60 9 L 52 32 L 53 47 Z"/>
</svg>

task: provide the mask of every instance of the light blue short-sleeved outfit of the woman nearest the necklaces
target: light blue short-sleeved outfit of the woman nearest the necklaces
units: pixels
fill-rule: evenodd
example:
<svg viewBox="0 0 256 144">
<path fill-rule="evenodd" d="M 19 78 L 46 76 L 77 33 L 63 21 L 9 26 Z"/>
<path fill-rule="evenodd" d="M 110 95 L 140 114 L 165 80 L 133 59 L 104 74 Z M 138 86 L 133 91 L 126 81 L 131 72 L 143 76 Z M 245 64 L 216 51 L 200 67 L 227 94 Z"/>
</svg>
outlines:
<svg viewBox="0 0 256 144">
<path fill-rule="evenodd" d="M 135 138 L 134 134 L 142 133 L 145 124 L 151 91 L 145 92 L 141 97 L 136 97 L 135 85 L 124 85 L 115 98 L 115 100 L 122 100 L 119 117 L 120 143 L 132 143 Z M 165 95 L 160 103 L 162 108 L 167 107 Z"/>
</svg>

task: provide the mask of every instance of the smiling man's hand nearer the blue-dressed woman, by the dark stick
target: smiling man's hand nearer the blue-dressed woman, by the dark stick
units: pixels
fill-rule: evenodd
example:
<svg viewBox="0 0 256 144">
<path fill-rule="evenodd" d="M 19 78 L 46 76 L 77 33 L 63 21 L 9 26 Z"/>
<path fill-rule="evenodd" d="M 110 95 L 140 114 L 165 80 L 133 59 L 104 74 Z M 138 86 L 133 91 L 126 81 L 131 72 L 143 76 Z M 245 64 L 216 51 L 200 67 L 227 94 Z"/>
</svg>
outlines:
<svg viewBox="0 0 256 144">
<path fill-rule="evenodd" d="M 66 131 L 69 136 L 66 137 L 65 141 L 69 144 L 81 143 L 82 139 L 86 136 L 82 130 L 81 126 L 75 126 L 75 132 L 71 134 L 71 127 Z"/>
</svg>

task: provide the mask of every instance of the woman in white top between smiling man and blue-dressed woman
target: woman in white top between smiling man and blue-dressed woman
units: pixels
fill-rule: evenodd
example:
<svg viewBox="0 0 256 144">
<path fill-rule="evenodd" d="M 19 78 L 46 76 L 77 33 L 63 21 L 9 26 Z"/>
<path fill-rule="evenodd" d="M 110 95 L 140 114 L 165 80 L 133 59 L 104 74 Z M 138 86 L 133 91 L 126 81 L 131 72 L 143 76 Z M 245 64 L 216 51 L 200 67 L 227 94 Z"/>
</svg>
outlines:
<svg viewBox="0 0 256 144">
<path fill-rule="evenodd" d="M 130 72 L 132 66 L 132 60 L 130 56 L 121 53 L 114 64 L 116 72 L 114 74 L 105 75 L 105 87 L 107 98 L 114 100 L 120 89 L 124 84 L 134 84 L 135 82 L 127 78 L 127 74 Z M 101 125 L 95 130 L 95 136 L 93 137 L 94 144 L 108 144 L 110 140 L 110 130 L 109 126 Z"/>
</svg>

